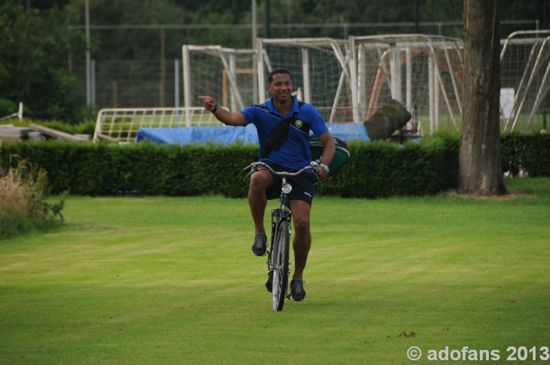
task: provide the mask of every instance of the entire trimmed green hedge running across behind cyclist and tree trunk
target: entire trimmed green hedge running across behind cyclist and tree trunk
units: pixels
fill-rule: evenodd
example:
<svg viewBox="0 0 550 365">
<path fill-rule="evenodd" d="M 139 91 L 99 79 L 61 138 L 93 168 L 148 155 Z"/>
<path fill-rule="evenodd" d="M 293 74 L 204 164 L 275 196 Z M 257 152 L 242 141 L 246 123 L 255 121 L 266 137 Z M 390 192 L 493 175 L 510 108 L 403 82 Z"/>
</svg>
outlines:
<svg viewBox="0 0 550 365">
<path fill-rule="evenodd" d="M 391 197 L 430 195 L 456 187 L 459 137 L 438 135 L 404 145 L 348 144 L 349 162 L 318 186 L 322 195 Z M 550 176 L 550 135 L 502 137 L 503 170 Z M 52 193 L 73 195 L 214 195 L 245 197 L 243 168 L 257 159 L 258 147 L 245 144 L 126 145 L 82 142 L 4 142 L 0 162 L 28 158 L 48 173 Z M 15 163 L 15 162 L 12 162 Z"/>
</svg>

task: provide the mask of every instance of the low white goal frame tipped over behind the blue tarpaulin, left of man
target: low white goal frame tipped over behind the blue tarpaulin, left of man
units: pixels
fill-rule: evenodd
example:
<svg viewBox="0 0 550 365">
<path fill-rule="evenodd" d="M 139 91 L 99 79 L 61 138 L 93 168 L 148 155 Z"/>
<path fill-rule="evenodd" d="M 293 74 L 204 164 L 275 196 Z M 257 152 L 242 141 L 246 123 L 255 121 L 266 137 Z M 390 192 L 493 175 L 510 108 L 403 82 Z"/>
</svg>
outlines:
<svg viewBox="0 0 550 365">
<path fill-rule="evenodd" d="M 107 108 L 96 120 L 94 142 L 129 143 L 140 128 L 218 126 L 217 119 L 203 107 L 191 108 Z"/>
</svg>

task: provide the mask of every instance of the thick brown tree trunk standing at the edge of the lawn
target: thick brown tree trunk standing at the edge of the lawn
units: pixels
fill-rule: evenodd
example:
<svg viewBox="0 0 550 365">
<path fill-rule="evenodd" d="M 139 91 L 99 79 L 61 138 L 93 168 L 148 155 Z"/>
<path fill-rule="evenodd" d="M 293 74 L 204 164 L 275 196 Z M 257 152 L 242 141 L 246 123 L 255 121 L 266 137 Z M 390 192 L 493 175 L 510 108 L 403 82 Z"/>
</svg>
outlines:
<svg viewBox="0 0 550 365">
<path fill-rule="evenodd" d="M 497 0 L 464 0 L 464 89 L 459 188 L 506 193 L 500 161 L 500 39 Z"/>
</svg>

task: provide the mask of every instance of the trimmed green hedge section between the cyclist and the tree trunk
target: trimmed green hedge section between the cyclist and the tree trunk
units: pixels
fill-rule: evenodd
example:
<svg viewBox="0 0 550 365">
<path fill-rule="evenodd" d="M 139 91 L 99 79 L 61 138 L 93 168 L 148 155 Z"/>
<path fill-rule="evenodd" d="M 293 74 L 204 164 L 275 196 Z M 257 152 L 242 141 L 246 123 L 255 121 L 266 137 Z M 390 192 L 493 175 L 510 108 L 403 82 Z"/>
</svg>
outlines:
<svg viewBox="0 0 550 365">
<path fill-rule="evenodd" d="M 350 142 L 348 147 L 349 162 L 320 186 L 320 193 L 366 198 L 428 195 L 454 188 L 457 181 L 456 139 L 404 145 Z"/>
</svg>

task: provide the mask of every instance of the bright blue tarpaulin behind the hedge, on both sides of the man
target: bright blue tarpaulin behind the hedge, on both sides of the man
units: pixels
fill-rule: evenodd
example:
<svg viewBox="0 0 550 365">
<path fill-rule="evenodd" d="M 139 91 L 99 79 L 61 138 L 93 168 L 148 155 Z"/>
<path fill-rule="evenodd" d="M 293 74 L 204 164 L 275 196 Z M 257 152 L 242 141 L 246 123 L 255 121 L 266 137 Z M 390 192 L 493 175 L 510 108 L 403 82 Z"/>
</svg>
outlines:
<svg viewBox="0 0 550 365">
<path fill-rule="evenodd" d="M 363 124 L 331 124 L 327 123 L 333 137 L 346 142 L 351 140 L 369 141 L 369 135 Z M 257 144 L 256 126 L 184 126 L 180 128 L 140 128 L 135 135 L 135 142 L 150 140 L 161 144 L 192 144 L 214 143 Z"/>
</svg>

